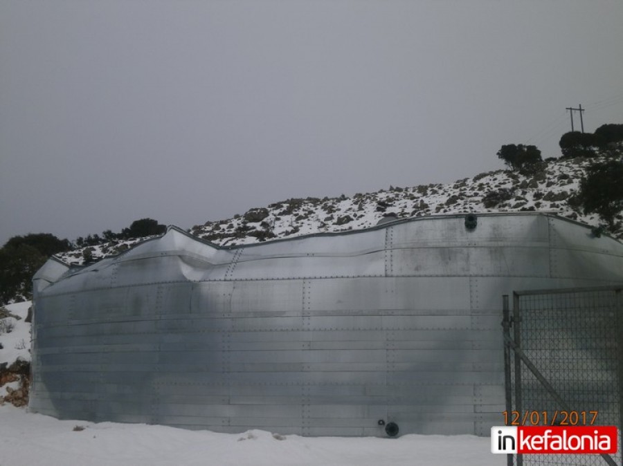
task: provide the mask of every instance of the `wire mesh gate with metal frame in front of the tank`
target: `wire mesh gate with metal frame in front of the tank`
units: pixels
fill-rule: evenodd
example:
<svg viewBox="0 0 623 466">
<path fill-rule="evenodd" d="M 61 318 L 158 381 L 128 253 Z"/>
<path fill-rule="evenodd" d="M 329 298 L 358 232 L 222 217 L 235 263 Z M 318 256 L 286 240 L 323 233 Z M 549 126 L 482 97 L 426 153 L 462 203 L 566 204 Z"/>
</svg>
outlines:
<svg viewBox="0 0 623 466">
<path fill-rule="evenodd" d="M 507 425 L 616 425 L 615 455 L 509 455 L 508 465 L 621 466 L 623 286 L 504 297 Z"/>
</svg>

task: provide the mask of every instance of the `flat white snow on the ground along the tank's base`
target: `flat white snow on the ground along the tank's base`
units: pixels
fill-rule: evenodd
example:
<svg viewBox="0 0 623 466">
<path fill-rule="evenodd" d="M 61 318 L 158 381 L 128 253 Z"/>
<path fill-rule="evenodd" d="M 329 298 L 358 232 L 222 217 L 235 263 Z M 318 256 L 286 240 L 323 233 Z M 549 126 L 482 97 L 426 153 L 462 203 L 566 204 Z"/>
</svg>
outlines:
<svg viewBox="0 0 623 466">
<path fill-rule="evenodd" d="M 75 427 L 84 430 L 74 430 Z M 339 438 L 279 436 L 251 430 L 216 434 L 155 425 L 56 420 L 0 407 L 1 466 L 426 465 L 502 466 L 489 438 L 417 436 Z"/>
</svg>

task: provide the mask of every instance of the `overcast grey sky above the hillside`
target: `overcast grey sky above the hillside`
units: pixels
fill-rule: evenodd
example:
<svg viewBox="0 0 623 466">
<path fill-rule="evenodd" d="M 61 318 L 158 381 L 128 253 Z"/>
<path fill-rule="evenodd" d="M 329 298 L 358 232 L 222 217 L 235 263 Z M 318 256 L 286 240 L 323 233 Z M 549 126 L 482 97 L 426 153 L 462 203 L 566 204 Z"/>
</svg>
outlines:
<svg viewBox="0 0 623 466">
<path fill-rule="evenodd" d="M 0 244 L 559 156 L 565 107 L 623 123 L 622 22 L 620 0 L 2 0 Z"/>
</svg>

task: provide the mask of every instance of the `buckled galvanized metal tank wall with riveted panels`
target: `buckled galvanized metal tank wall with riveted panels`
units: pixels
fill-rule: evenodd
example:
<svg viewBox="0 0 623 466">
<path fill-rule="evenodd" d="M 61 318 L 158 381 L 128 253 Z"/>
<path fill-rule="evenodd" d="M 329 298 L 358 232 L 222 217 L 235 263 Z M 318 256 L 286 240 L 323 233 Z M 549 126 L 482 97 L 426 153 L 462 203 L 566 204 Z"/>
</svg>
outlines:
<svg viewBox="0 0 623 466">
<path fill-rule="evenodd" d="M 488 435 L 502 295 L 620 283 L 623 245 L 547 214 L 218 248 L 170 227 L 35 276 L 30 409 L 305 436 Z"/>
</svg>

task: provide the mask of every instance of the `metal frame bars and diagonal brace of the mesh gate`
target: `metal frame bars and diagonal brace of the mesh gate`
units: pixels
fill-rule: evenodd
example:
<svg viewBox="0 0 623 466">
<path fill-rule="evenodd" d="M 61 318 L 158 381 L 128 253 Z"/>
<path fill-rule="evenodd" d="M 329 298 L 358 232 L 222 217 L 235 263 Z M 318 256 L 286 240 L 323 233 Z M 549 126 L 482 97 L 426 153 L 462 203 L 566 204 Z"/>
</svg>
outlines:
<svg viewBox="0 0 623 466">
<path fill-rule="evenodd" d="M 504 370 L 505 370 L 505 399 L 506 399 L 506 411 L 507 415 L 512 411 L 518 411 L 523 413 L 523 393 L 522 393 L 522 364 L 530 371 L 534 376 L 534 379 L 541 384 L 542 388 L 557 402 L 560 409 L 567 412 L 572 412 L 573 407 L 570 406 L 567 400 L 559 393 L 550 380 L 543 375 L 539 368 L 530 360 L 530 357 L 523 351 L 521 344 L 522 336 L 522 321 L 523 321 L 523 297 L 538 297 L 547 295 L 581 295 L 596 292 L 612 292 L 615 321 L 613 327 L 615 328 L 615 335 L 617 335 L 616 354 L 617 354 L 617 382 L 618 382 L 618 418 L 617 427 L 619 429 L 619 456 L 623 457 L 623 286 L 602 286 L 594 288 L 561 288 L 550 290 L 525 290 L 513 292 L 513 311 L 512 315 L 509 309 L 509 296 L 503 295 L 503 343 L 504 343 Z M 547 312 L 547 309 L 539 310 L 539 312 Z M 511 335 L 511 328 L 513 328 L 513 334 Z M 575 328 L 574 330 L 584 330 L 583 328 Z M 509 418 L 507 418 L 509 419 Z M 547 455 L 543 455 L 547 456 Z M 622 466 L 622 463 L 617 463 L 612 456 L 607 454 L 601 455 L 603 462 L 600 464 L 607 464 L 609 466 Z M 531 459 L 534 455 L 530 455 Z M 595 457 L 594 457 L 595 458 Z M 509 454 L 507 455 L 508 466 L 522 466 L 523 455 L 521 454 Z M 551 460 L 546 461 L 548 464 L 552 464 Z M 538 463 L 538 461 L 537 461 Z M 536 463 L 534 463 L 536 464 Z M 561 463 L 562 464 L 562 463 Z"/>
</svg>

